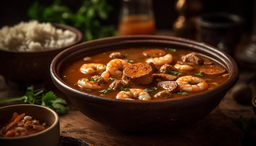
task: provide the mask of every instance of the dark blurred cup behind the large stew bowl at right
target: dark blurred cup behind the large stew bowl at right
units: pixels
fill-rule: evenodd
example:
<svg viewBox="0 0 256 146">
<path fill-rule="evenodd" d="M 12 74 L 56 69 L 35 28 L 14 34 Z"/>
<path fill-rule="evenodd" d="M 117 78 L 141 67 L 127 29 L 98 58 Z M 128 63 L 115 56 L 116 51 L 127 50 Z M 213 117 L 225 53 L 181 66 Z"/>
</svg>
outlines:
<svg viewBox="0 0 256 146">
<path fill-rule="evenodd" d="M 234 56 L 243 31 L 243 18 L 231 13 L 213 12 L 199 15 L 196 22 L 198 41 Z"/>
</svg>

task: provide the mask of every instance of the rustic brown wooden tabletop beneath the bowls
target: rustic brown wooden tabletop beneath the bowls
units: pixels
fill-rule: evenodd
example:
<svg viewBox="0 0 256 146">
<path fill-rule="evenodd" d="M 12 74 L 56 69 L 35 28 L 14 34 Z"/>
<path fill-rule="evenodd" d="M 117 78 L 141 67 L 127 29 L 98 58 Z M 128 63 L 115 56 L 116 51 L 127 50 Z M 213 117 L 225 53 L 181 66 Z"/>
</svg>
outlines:
<svg viewBox="0 0 256 146">
<path fill-rule="evenodd" d="M 248 80 L 254 72 L 240 72 L 238 83 Z M 51 84 L 51 81 L 48 81 Z M 256 94 L 255 84 L 250 84 Z M 54 88 L 52 86 L 52 88 Z M 24 95 L 25 90 L 16 84 L 7 84 L 0 75 L 0 98 Z M 56 88 L 54 93 L 63 96 Z M 0 105 L 4 106 L 4 105 Z M 245 120 L 256 118 L 251 105 L 237 103 L 232 89 L 220 105 L 209 115 L 193 124 L 166 129 L 159 133 L 126 133 L 103 126 L 76 111 L 71 104 L 69 112 L 60 116 L 60 146 L 240 146 L 243 131 L 236 122 L 242 115 Z"/>
</svg>

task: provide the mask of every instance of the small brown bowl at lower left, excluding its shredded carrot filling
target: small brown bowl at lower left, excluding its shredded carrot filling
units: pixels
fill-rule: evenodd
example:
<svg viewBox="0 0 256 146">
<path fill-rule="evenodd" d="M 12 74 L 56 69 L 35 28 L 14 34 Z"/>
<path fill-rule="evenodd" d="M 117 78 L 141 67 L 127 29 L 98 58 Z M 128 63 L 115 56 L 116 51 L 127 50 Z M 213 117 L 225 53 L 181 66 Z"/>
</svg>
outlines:
<svg viewBox="0 0 256 146">
<path fill-rule="evenodd" d="M 0 108 L 0 123 L 4 118 L 10 119 L 14 112 L 25 113 L 45 122 L 49 128 L 23 137 L 0 137 L 1 146 L 58 146 L 60 125 L 58 114 L 50 108 L 34 104 L 16 104 Z"/>
</svg>

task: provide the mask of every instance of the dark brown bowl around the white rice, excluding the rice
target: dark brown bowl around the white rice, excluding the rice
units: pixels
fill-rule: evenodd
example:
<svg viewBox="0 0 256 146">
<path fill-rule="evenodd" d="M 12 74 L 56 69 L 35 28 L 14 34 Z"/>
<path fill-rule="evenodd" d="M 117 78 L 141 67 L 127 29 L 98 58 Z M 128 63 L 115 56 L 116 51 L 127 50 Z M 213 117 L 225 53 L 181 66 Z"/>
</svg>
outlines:
<svg viewBox="0 0 256 146">
<path fill-rule="evenodd" d="M 14 81 L 30 86 L 34 82 L 50 79 L 49 66 L 52 59 L 64 49 L 81 42 L 83 35 L 78 29 L 64 24 L 53 25 L 56 28 L 68 29 L 76 33 L 76 41 L 68 46 L 52 50 L 20 52 L 0 49 L 0 74 L 7 82 Z"/>
</svg>

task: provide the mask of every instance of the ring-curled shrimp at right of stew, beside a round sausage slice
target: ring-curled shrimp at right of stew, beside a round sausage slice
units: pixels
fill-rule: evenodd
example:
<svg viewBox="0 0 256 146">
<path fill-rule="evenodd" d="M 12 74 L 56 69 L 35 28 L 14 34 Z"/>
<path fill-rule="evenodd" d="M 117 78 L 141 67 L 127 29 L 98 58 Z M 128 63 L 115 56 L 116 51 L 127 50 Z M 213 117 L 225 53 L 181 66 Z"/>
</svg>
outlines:
<svg viewBox="0 0 256 146">
<path fill-rule="evenodd" d="M 178 88 L 186 92 L 203 91 L 209 87 L 206 80 L 200 77 L 192 77 L 191 75 L 182 76 L 176 82 L 178 83 Z"/>
</svg>

